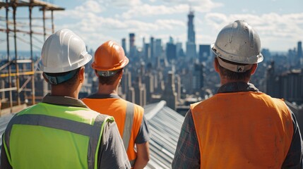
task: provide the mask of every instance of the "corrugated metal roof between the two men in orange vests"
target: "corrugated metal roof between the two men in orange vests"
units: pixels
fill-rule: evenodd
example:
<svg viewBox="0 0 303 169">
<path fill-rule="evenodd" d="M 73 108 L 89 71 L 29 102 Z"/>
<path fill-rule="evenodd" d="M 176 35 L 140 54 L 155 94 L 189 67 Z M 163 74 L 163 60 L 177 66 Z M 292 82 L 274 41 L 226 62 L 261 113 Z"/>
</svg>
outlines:
<svg viewBox="0 0 303 169">
<path fill-rule="evenodd" d="M 145 168 L 172 168 L 184 117 L 165 104 L 165 101 L 160 101 L 144 107 L 151 132 L 150 161 Z"/>
</svg>

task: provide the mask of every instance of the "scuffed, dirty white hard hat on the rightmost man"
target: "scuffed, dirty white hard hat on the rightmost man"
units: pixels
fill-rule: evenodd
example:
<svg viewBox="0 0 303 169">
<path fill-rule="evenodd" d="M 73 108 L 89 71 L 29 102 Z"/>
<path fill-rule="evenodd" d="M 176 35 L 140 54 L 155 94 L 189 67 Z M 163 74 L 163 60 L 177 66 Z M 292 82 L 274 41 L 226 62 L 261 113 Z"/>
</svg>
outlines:
<svg viewBox="0 0 303 169">
<path fill-rule="evenodd" d="M 244 20 L 236 20 L 223 27 L 211 49 L 218 57 L 234 63 L 263 61 L 259 35 Z"/>
</svg>

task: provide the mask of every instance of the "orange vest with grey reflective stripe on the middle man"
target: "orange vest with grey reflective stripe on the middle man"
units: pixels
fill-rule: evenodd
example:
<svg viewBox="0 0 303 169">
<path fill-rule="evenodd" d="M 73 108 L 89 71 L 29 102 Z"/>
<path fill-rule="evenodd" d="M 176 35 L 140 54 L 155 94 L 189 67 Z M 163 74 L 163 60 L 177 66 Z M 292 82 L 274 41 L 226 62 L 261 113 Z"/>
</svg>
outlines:
<svg viewBox="0 0 303 169">
<path fill-rule="evenodd" d="M 110 95 L 111 98 L 89 99 L 82 101 L 94 111 L 111 115 L 117 123 L 119 133 L 124 142 L 124 148 L 131 166 L 136 162 L 135 142 L 143 120 L 144 109 L 121 99 L 119 96 Z"/>
</svg>

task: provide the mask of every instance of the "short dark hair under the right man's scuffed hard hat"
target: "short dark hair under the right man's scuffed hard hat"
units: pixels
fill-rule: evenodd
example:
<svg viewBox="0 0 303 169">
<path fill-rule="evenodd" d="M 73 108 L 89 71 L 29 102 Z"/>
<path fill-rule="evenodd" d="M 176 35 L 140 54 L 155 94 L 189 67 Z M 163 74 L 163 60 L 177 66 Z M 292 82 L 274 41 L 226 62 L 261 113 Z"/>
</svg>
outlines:
<svg viewBox="0 0 303 169">
<path fill-rule="evenodd" d="M 222 59 L 222 61 L 225 61 L 226 63 L 231 63 L 234 65 L 247 65 L 247 64 L 243 64 L 243 63 L 234 63 L 232 61 L 227 61 L 223 58 L 221 58 L 221 59 Z M 223 68 L 219 63 L 218 63 L 218 65 L 219 65 L 220 73 L 223 76 L 226 76 L 230 80 L 247 80 L 247 79 L 250 79 L 250 77 L 251 77 L 251 69 L 246 70 L 244 73 L 237 73 L 237 72 L 233 72 L 232 70 Z"/>
</svg>

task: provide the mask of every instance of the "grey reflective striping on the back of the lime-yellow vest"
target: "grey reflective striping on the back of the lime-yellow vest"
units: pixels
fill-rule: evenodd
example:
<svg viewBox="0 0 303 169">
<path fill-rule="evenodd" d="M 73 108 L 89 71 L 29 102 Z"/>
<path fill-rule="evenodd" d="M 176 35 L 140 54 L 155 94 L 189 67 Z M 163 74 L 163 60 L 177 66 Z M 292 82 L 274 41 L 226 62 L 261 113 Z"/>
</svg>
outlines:
<svg viewBox="0 0 303 169">
<path fill-rule="evenodd" d="M 94 125 L 80 123 L 74 120 L 57 118 L 49 115 L 23 114 L 13 117 L 5 132 L 5 142 L 9 152 L 9 139 L 13 125 L 39 125 L 58 130 L 65 130 L 90 137 L 88 144 L 88 168 L 95 168 L 95 154 L 100 138 L 101 126 L 106 115 L 97 115 Z"/>
</svg>

